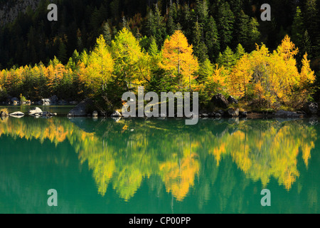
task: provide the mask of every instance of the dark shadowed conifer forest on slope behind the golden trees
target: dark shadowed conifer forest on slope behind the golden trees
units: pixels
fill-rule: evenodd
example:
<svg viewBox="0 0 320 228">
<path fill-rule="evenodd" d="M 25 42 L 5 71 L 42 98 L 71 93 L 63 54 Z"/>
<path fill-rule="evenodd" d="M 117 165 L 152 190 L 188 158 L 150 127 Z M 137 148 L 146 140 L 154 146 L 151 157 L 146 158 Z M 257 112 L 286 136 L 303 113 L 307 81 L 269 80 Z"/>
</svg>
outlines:
<svg viewBox="0 0 320 228">
<path fill-rule="evenodd" d="M 0 1 L 0 9 L 5 4 L 14 8 L 16 2 Z M 50 2 L 58 5 L 58 21 L 47 19 Z M 262 4 L 270 4 L 272 21 L 260 19 Z M 141 43 L 146 49 L 149 37 L 160 47 L 180 28 L 199 61 L 208 57 L 213 63 L 227 46 L 241 43 L 250 52 L 263 42 L 273 50 L 289 34 L 300 50 L 298 58 L 308 52 L 311 68 L 319 71 L 319 6 L 319 0 L 40 0 L 36 9 L 30 6 L 2 25 L 0 69 L 47 64 L 54 56 L 67 63 L 75 50 L 90 51 L 101 33 L 111 40 L 128 26 L 138 38 L 146 36 Z"/>
</svg>

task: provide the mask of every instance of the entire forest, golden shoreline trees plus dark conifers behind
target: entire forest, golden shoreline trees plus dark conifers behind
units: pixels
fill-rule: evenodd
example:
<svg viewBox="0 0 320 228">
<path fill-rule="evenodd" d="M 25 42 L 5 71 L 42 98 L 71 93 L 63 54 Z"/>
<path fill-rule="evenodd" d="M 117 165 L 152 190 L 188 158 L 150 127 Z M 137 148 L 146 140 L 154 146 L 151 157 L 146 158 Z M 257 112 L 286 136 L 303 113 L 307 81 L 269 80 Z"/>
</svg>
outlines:
<svg viewBox="0 0 320 228">
<path fill-rule="evenodd" d="M 54 1 L 53 1 L 54 2 Z M 0 100 L 95 98 L 127 90 L 216 93 L 255 108 L 299 109 L 318 99 L 319 1 L 49 1 L 0 31 Z"/>
</svg>

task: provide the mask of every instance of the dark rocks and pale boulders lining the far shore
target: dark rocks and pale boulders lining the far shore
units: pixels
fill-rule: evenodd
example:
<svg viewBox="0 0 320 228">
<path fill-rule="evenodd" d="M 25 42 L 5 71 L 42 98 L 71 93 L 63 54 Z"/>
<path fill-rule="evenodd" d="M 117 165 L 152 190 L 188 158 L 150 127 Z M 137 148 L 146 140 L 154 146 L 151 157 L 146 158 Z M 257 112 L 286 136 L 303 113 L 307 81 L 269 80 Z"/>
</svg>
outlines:
<svg viewBox="0 0 320 228">
<path fill-rule="evenodd" d="M 11 101 L 15 101 L 16 103 L 21 103 L 17 98 L 11 98 Z M 58 97 L 54 95 L 48 99 L 41 99 L 38 104 L 41 105 L 63 105 L 68 102 L 63 102 L 63 100 L 58 100 Z M 22 103 L 21 103 L 22 104 Z M 77 104 L 77 102 L 71 102 L 68 104 Z M 247 112 L 245 110 L 240 110 L 237 108 L 238 100 L 229 96 L 226 99 L 222 94 L 218 93 L 214 95 L 210 101 L 210 104 L 213 105 L 214 111 L 201 110 L 198 113 L 198 118 L 247 118 L 247 119 L 256 119 L 256 118 L 310 118 L 310 117 L 318 117 L 320 115 L 320 111 L 317 103 L 306 103 L 302 110 L 297 111 L 287 111 L 287 110 L 277 110 L 273 113 L 268 112 L 255 112 L 250 111 Z M 31 102 L 28 103 L 31 105 Z M 26 113 L 15 112 L 15 113 L 7 113 L 5 110 L 1 110 L 0 117 L 15 117 L 22 118 Z M 36 118 L 45 117 L 50 118 L 56 116 L 57 113 L 49 113 L 41 110 L 41 108 L 33 108 L 28 111 L 28 115 L 32 115 Z M 65 116 L 65 115 L 64 115 Z M 112 112 L 107 112 L 98 108 L 92 99 L 82 100 L 78 105 L 75 106 L 68 113 L 68 118 L 77 118 L 77 117 L 92 117 L 98 118 L 100 117 L 111 117 L 111 118 L 122 118 L 122 114 L 119 110 L 114 110 Z"/>
</svg>

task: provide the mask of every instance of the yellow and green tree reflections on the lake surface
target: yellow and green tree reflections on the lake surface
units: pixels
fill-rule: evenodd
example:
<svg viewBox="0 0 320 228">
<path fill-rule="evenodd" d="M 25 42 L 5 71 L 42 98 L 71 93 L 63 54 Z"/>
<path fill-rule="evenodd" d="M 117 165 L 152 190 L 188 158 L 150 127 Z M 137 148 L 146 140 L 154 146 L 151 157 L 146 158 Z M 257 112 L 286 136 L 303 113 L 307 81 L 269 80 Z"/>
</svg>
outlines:
<svg viewBox="0 0 320 228">
<path fill-rule="evenodd" d="M 245 178 L 260 180 L 267 187 L 273 177 L 289 191 L 300 175 L 299 154 L 308 167 L 317 140 L 315 127 L 306 120 L 202 120 L 187 126 L 183 120 L 116 123 L 111 119 L 26 117 L 0 121 L 1 135 L 50 140 L 55 145 L 70 142 L 80 162 L 87 162 L 92 170 L 97 192 L 104 196 L 112 186 L 125 201 L 134 197 L 144 180 L 152 182 L 154 177 L 160 178 L 177 201 L 183 201 L 191 189 L 201 192 L 203 199 L 199 200 L 206 201 L 215 181 L 223 178 L 225 184 L 217 193 L 222 208 L 223 198 L 230 197 L 236 182 L 228 158 Z"/>
</svg>

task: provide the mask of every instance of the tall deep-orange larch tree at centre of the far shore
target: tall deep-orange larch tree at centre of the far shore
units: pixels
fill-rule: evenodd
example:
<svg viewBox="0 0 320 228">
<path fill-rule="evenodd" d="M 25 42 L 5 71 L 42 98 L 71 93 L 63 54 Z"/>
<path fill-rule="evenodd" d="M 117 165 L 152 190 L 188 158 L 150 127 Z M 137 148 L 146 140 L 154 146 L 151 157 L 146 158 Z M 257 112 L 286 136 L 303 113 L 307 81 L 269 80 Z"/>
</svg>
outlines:
<svg viewBox="0 0 320 228">
<path fill-rule="evenodd" d="M 188 44 L 186 36 L 177 30 L 164 41 L 162 61 L 159 66 L 169 72 L 180 83 L 180 89 L 189 88 L 194 81 L 193 73 L 198 70 L 198 59 L 193 56 L 193 46 Z"/>
</svg>

